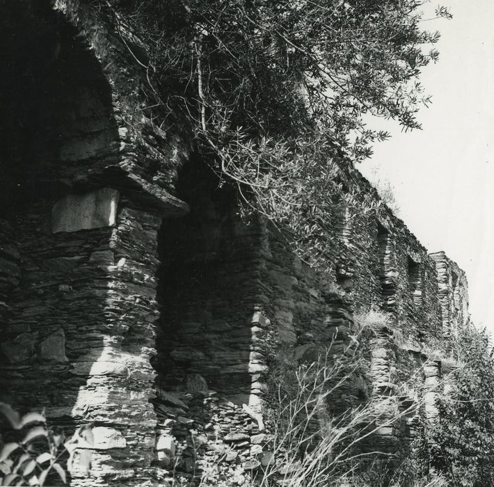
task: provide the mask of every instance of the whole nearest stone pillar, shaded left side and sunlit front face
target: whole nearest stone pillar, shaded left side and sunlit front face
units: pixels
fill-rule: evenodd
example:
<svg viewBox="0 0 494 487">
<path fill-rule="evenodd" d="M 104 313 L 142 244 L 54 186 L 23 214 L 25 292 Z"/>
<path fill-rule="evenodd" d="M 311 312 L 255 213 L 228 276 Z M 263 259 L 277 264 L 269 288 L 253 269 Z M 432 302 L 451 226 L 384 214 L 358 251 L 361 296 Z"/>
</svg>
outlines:
<svg viewBox="0 0 494 487">
<path fill-rule="evenodd" d="M 0 401 L 45 408 L 69 436 L 93 422 L 93 465 L 72 486 L 153 485 L 161 215 L 115 189 L 22 211 L 19 255 L 0 232 L 0 309 L 22 271 L 0 337 Z"/>
</svg>

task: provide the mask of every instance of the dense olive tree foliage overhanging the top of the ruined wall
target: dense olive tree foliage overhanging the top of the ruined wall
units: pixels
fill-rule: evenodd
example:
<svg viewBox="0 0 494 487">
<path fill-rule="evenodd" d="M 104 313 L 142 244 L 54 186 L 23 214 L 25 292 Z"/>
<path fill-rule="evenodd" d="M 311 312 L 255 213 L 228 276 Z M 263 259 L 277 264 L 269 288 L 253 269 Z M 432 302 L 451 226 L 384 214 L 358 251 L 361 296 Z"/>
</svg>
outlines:
<svg viewBox="0 0 494 487">
<path fill-rule="evenodd" d="M 430 101 L 418 81 L 438 59 L 429 0 L 93 1 L 141 38 L 154 92 L 185 115 L 205 161 L 248 207 L 303 234 L 302 253 L 324 247 L 335 160 L 362 161 L 388 137 L 362 115 L 419 129 Z"/>
</svg>

